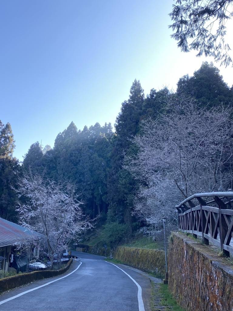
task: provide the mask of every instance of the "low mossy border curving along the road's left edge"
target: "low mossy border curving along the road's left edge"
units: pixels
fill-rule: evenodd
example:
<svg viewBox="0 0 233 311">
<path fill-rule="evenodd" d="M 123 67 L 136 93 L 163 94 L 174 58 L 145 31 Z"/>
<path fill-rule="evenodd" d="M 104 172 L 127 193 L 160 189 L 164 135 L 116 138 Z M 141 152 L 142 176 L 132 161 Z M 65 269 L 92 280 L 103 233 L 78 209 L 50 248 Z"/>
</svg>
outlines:
<svg viewBox="0 0 233 311">
<path fill-rule="evenodd" d="M 29 273 L 17 274 L 14 276 L 8 276 L 6 278 L 0 279 L 0 292 L 4 292 L 6 290 L 10 290 L 34 281 L 47 279 L 49 277 L 63 274 L 69 269 L 72 262 L 73 259 L 70 259 L 66 266 L 59 270 L 34 271 Z"/>
</svg>

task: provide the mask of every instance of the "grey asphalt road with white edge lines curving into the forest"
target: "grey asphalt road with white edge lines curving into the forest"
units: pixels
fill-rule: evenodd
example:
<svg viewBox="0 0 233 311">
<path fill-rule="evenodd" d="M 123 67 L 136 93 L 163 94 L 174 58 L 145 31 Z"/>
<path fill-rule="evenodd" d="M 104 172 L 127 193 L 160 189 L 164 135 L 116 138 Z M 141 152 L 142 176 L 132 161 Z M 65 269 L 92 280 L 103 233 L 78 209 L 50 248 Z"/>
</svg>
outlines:
<svg viewBox="0 0 233 311">
<path fill-rule="evenodd" d="M 151 286 L 146 276 L 110 264 L 101 256 L 73 251 L 72 255 L 80 258 L 72 263 L 66 274 L 0 295 L 0 310 L 150 310 Z"/>
</svg>

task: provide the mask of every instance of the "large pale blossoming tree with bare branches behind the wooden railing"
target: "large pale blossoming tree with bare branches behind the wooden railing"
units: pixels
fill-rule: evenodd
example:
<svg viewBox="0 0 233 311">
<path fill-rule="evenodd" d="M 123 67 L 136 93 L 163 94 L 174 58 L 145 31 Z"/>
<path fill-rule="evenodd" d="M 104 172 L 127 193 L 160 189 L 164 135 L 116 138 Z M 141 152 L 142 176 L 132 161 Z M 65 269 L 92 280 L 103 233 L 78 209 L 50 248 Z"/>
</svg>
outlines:
<svg viewBox="0 0 233 311">
<path fill-rule="evenodd" d="M 133 139 L 139 151 L 125 158 L 140 182 L 138 216 L 158 226 L 163 216 L 174 215 L 175 202 L 231 188 L 232 112 L 223 106 L 207 110 L 181 96 L 168 100 L 156 120 L 142 121 L 141 135 Z"/>
</svg>

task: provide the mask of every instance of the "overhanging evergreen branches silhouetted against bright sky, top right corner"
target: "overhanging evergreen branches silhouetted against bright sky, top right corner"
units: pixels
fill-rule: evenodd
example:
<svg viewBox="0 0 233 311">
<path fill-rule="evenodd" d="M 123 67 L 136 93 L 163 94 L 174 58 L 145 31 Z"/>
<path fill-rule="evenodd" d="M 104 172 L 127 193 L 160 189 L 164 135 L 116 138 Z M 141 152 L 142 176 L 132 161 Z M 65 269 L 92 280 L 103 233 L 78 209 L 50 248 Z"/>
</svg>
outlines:
<svg viewBox="0 0 233 311">
<path fill-rule="evenodd" d="M 169 14 L 174 22 L 169 26 L 171 37 L 178 41 L 181 51 L 196 50 L 196 56 L 212 56 L 228 66 L 232 56 L 225 35 L 232 8 L 232 0 L 176 0 Z"/>
</svg>

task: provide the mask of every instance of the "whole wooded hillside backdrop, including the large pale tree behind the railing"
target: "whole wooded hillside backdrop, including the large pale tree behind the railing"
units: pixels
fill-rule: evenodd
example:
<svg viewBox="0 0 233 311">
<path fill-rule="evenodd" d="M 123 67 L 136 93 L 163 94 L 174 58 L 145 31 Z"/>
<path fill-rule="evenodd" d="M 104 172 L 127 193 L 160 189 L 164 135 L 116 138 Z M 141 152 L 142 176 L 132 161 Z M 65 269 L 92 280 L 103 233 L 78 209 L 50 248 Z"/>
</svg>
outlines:
<svg viewBox="0 0 233 311">
<path fill-rule="evenodd" d="M 75 184 L 82 213 L 101 215 L 116 243 L 140 227 L 155 233 L 164 215 L 174 224 L 172 211 L 181 199 L 232 188 L 232 98 L 233 88 L 207 62 L 192 77 L 181 77 L 176 92 L 152 89 L 145 96 L 135 79 L 115 132 L 111 123 L 78 130 L 71 122 L 53 148 L 34 142 L 22 165 L 13 157 L 10 124 L 0 123 L 0 216 L 19 220 L 18 180 L 34 171 L 53 183 L 65 178 Z"/>
</svg>

